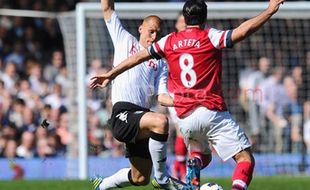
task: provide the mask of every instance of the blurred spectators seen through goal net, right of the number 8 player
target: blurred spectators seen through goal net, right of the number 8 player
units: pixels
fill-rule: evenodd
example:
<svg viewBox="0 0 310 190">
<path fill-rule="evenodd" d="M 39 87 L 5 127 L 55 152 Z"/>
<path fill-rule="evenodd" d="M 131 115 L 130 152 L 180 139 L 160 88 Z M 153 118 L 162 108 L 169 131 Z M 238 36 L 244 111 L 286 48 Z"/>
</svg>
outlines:
<svg viewBox="0 0 310 190">
<path fill-rule="evenodd" d="M 300 153 L 303 137 L 310 150 L 310 51 L 306 63 L 291 68 L 260 57 L 240 72 L 239 102 L 256 152 Z"/>
</svg>

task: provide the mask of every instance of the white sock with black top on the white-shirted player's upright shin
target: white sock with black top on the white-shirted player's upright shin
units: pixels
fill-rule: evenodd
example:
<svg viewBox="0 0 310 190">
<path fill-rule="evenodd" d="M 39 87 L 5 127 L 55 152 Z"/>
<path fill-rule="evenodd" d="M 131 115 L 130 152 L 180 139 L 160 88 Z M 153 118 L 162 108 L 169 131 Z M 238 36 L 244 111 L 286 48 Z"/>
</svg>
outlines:
<svg viewBox="0 0 310 190">
<path fill-rule="evenodd" d="M 153 161 L 154 177 L 159 184 L 168 181 L 166 171 L 168 134 L 152 133 L 149 140 L 149 150 Z"/>
</svg>

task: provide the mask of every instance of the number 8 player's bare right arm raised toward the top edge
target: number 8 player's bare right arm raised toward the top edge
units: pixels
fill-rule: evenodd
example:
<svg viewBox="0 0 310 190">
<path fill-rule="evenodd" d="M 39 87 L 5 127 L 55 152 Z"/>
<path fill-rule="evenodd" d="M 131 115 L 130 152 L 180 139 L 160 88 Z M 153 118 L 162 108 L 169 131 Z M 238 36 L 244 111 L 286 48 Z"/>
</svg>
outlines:
<svg viewBox="0 0 310 190">
<path fill-rule="evenodd" d="M 269 6 L 258 16 L 243 22 L 239 27 L 232 32 L 232 43 L 235 44 L 245 39 L 252 33 L 256 32 L 261 26 L 267 22 L 270 17 L 275 14 L 284 0 L 270 0 Z"/>
</svg>

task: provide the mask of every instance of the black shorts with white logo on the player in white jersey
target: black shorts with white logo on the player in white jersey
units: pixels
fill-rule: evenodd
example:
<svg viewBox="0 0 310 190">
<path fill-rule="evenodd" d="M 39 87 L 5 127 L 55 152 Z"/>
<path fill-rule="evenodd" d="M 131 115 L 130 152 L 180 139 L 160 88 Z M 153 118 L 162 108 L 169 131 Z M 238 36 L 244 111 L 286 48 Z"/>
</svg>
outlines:
<svg viewBox="0 0 310 190">
<path fill-rule="evenodd" d="M 150 159 L 149 139 L 137 140 L 142 116 L 149 109 L 129 102 L 114 104 L 111 115 L 112 133 L 115 139 L 126 144 L 126 157 Z"/>
</svg>

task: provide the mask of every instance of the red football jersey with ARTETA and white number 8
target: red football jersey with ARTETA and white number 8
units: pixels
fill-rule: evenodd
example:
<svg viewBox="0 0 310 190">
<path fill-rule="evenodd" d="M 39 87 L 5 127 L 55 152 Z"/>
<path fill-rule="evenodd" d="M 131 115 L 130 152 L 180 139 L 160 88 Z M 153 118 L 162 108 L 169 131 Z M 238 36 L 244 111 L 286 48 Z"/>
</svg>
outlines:
<svg viewBox="0 0 310 190">
<path fill-rule="evenodd" d="M 222 95 L 222 49 L 232 47 L 231 30 L 187 28 L 170 33 L 149 47 L 156 59 L 166 58 L 168 89 L 179 117 L 198 106 L 226 111 Z"/>
</svg>

